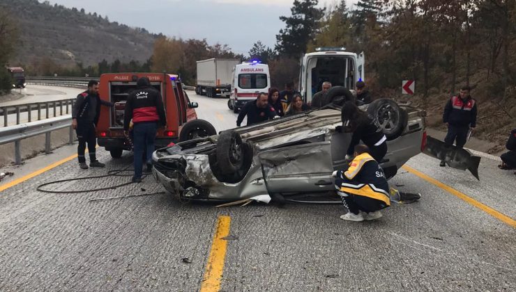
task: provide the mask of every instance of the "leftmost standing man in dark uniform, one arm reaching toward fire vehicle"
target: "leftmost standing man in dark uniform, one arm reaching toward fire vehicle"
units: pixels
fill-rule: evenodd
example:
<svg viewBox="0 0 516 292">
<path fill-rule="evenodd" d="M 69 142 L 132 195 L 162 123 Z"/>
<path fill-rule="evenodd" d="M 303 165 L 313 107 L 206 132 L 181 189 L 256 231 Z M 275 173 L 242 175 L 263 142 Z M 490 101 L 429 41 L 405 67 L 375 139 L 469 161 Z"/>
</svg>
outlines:
<svg viewBox="0 0 516 292">
<path fill-rule="evenodd" d="M 104 163 L 97 160 L 95 149 L 97 146 L 97 138 L 95 128 L 100 117 L 100 106 L 113 106 L 111 102 L 100 99 L 98 95 L 98 81 L 90 80 L 88 82 L 88 90 L 77 95 L 77 100 L 72 109 L 72 128 L 77 133 L 79 145 L 77 145 L 77 159 L 79 167 L 83 170 L 88 169 L 84 152 L 86 143 L 88 144 L 89 165 L 92 168 L 103 168 Z"/>
</svg>

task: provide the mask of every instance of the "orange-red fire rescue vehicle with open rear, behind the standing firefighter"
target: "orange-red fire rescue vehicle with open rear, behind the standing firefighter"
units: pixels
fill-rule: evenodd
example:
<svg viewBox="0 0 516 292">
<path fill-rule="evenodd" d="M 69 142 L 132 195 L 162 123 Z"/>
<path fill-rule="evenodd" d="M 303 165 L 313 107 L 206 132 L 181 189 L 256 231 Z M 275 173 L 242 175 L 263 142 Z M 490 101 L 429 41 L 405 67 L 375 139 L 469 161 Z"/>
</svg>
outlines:
<svg viewBox="0 0 516 292">
<path fill-rule="evenodd" d="M 137 80 L 148 77 L 151 86 L 161 93 L 167 125 L 158 129 L 156 147 L 165 147 L 171 142 L 188 140 L 198 136 L 215 134 L 213 126 L 204 120 L 197 120 L 196 102 L 190 102 L 184 92 L 179 76 L 160 73 L 109 73 L 100 76 L 100 99 L 112 102 L 112 108 L 102 106 L 96 128 L 98 145 L 118 158 L 124 149 L 132 149 L 131 139 L 124 136 L 123 116 L 128 95 L 136 89 Z"/>
</svg>

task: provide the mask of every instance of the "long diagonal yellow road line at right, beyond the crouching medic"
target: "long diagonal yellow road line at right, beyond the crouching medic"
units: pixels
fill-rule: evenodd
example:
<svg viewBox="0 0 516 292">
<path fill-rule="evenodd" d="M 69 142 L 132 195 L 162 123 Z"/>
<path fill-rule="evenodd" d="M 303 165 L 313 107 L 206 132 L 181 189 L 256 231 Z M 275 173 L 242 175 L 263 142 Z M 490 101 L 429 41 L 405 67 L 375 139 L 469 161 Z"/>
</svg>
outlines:
<svg viewBox="0 0 516 292">
<path fill-rule="evenodd" d="M 441 181 L 438 181 L 437 179 L 433 179 L 432 177 L 429 177 L 429 176 L 425 175 L 423 172 L 415 170 L 415 169 L 411 168 L 410 166 L 403 165 L 402 168 L 404 170 L 407 170 L 408 172 L 411 172 L 413 175 L 420 177 L 421 179 L 425 179 L 425 181 L 430 182 L 430 184 L 434 184 L 435 186 L 438 186 L 439 188 L 446 190 L 448 193 L 455 195 L 456 197 L 460 198 L 461 200 L 464 200 L 464 202 L 467 202 L 468 204 L 475 206 L 476 208 L 484 211 L 485 213 L 490 214 L 494 218 L 501 220 L 502 222 L 505 222 L 506 224 L 508 224 L 512 227 L 516 227 L 516 220 L 500 213 L 499 211 L 496 211 L 495 209 L 492 209 L 490 206 L 482 204 L 482 203 L 478 202 L 477 200 L 474 200 L 473 198 L 468 197 L 467 195 L 464 195 L 463 193 L 460 193 L 460 191 L 455 190 L 455 188 L 451 188 L 450 186 L 447 186 L 446 184 L 441 183 Z"/>
</svg>

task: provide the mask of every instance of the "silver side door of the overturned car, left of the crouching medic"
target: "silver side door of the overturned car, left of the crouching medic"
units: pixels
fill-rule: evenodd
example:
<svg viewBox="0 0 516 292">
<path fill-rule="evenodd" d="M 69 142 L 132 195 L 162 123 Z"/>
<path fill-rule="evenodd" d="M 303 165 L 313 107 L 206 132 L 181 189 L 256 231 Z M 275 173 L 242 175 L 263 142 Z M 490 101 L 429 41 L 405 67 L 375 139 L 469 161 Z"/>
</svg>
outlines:
<svg viewBox="0 0 516 292">
<path fill-rule="evenodd" d="M 313 193 L 331 190 L 331 142 L 269 149 L 259 154 L 269 193 Z"/>
</svg>

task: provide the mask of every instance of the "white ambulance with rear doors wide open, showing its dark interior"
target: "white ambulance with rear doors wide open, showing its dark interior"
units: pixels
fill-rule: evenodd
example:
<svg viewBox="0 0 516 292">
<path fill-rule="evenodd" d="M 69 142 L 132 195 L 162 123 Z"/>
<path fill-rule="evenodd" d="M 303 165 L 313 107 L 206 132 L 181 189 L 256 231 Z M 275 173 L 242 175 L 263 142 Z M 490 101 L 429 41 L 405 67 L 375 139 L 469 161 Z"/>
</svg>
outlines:
<svg viewBox="0 0 516 292">
<path fill-rule="evenodd" d="M 312 96 L 321 91 L 324 81 L 353 90 L 360 80 L 365 81 L 363 52 L 356 54 L 344 47 L 320 47 L 301 58 L 299 91 L 305 102 L 312 102 Z"/>
</svg>

